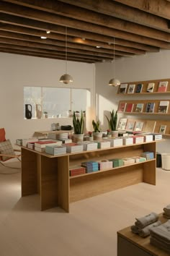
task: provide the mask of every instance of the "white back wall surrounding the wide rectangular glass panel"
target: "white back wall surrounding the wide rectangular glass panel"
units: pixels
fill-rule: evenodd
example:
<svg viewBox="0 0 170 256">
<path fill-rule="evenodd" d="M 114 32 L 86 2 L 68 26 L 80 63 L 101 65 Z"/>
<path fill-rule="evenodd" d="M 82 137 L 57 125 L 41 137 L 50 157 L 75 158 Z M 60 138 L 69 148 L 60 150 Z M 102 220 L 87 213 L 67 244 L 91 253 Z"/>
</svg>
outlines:
<svg viewBox="0 0 170 256">
<path fill-rule="evenodd" d="M 32 137 L 35 131 L 50 130 L 50 124 L 72 124 L 72 119 L 24 119 L 23 87 L 66 87 L 59 79 L 65 73 L 65 61 L 32 56 L 0 53 L 0 127 L 6 138 L 14 143 L 17 138 Z M 68 74 L 74 82 L 69 88 L 89 88 L 94 105 L 94 64 L 68 61 Z M 81 99 L 78 99 L 79 101 Z"/>
</svg>

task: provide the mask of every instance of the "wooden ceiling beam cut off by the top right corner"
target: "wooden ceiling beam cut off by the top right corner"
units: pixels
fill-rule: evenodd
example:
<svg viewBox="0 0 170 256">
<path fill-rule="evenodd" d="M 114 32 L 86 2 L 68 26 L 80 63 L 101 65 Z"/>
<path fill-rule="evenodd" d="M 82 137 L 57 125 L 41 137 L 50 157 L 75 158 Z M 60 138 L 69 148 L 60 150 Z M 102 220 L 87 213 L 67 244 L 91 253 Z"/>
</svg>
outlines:
<svg viewBox="0 0 170 256">
<path fill-rule="evenodd" d="M 170 2 L 166 0 L 115 0 L 120 4 L 140 9 L 170 20 Z"/>
</svg>

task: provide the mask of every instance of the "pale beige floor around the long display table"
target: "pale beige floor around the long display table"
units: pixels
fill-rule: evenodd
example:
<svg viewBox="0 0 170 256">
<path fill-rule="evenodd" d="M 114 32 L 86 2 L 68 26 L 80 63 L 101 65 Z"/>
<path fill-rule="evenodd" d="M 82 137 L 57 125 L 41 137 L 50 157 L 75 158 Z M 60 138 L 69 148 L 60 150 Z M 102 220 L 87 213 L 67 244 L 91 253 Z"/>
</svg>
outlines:
<svg viewBox="0 0 170 256">
<path fill-rule="evenodd" d="M 116 256 L 118 230 L 170 203 L 170 171 L 161 168 L 156 186 L 140 183 L 74 202 L 71 213 L 40 212 L 38 195 L 21 197 L 20 179 L 0 174 L 0 256 Z"/>
</svg>

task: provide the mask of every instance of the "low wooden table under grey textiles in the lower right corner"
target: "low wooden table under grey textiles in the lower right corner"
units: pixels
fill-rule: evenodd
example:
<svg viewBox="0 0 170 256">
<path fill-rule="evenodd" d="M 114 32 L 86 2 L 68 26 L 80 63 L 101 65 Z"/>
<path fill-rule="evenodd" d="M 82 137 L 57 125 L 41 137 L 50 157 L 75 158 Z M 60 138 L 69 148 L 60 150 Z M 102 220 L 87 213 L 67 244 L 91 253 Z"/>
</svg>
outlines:
<svg viewBox="0 0 170 256">
<path fill-rule="evenodd" d="M 162 214 L 159 217 L 161 223 L 168 221 Z M 150 244 L 150 236 L 146 238 L 133 234 L 128 228 L 117 232 L 117 256 L 169 256 L 168 252 Z"/>
</svg>

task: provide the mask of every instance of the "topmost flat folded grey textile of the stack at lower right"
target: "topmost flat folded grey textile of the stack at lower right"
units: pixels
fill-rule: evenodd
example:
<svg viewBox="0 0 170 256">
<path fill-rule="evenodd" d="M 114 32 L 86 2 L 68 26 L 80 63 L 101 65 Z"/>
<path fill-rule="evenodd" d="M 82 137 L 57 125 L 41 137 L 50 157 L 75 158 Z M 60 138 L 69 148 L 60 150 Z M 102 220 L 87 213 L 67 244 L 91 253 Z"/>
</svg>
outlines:
<svg viewBox="0 0 170 256">
<path fill-rule="evenodd" d="M 163 242 L 164 244 L 169 244 L 170 247 L 170 220 L 166 221 L 160 226 L 151 228 L 150 234 L 154 238 L 158 239 L 160 242 Z"/>
</svg>

